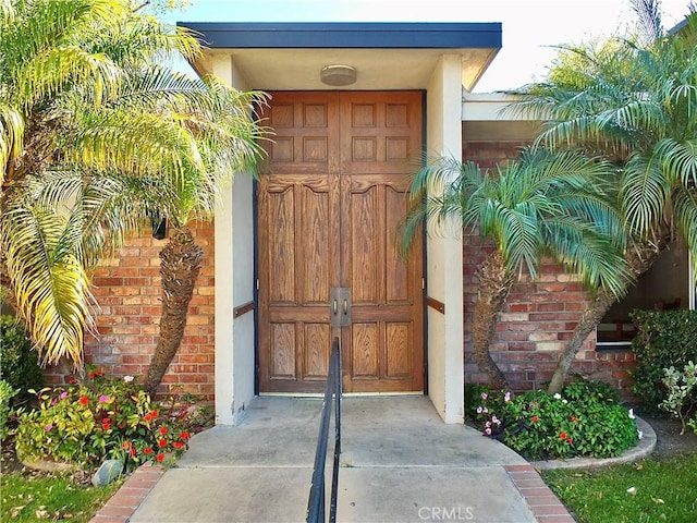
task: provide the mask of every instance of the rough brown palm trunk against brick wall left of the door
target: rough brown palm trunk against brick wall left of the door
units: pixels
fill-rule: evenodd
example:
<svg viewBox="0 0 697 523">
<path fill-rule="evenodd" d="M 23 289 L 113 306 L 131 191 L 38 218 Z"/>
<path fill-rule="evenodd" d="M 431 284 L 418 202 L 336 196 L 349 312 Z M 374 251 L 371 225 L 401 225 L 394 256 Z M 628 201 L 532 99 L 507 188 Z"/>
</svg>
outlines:
<svg viewBox="0 0 697 523">
<path fill-rule="evenodd" d="M 188 303 L 194 295 L 203 257 L 204 252 L 194 243 L 188 229 L 173 232 L 170 242 L 160 252 L 160 275 L 162 276 L 160 338 L 144 382 L 145 390 L 149 391 L 152 398 L 182 342 Z"/>
</svg>

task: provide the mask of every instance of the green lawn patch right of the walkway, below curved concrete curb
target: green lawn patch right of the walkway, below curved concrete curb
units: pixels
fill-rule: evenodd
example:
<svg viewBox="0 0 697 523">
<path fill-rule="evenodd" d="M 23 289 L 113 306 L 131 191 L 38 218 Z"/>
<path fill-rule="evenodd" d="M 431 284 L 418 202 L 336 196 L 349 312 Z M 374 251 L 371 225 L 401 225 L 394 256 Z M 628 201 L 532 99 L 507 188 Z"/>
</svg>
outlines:
<svg viewBox="0 0 697 523">
<path fill-rule="evenodd" d="M 695 523 L 697 519 L 697 452 L 601 470 L 548 471 L 542 477 L 577 523 Z"/>
</svg>

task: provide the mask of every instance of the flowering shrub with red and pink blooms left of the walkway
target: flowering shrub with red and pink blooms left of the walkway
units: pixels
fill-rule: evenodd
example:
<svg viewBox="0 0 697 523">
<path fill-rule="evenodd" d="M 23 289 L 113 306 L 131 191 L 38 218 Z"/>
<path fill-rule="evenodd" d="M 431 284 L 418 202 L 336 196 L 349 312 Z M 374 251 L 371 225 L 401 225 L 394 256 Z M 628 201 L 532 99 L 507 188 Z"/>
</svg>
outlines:
<svg viewBox="0 0 697 523">
<path fill-rule="evenodd" d="M 20 412 L 17 454 L 90 466 L 120 459 L 126 470 L 145 462 L 171 464 L 187 449 L 191 433 L 150 401 L 133 377 L 89 380 L 36 392 L 39 408 Z"/>
</svg>

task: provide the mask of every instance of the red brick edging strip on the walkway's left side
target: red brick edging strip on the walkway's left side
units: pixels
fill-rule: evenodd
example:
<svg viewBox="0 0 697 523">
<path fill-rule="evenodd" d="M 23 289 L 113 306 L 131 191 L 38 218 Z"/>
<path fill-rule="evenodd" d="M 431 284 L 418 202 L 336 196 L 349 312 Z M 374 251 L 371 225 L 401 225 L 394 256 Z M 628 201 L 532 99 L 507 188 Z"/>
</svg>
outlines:
<svg viewBox="0 0 697 523">
<path fill-rule="evenodd" d="M 89 523 L 126 523 L 164 474 L 161 466 L 140 465 Z"/>
</svg>

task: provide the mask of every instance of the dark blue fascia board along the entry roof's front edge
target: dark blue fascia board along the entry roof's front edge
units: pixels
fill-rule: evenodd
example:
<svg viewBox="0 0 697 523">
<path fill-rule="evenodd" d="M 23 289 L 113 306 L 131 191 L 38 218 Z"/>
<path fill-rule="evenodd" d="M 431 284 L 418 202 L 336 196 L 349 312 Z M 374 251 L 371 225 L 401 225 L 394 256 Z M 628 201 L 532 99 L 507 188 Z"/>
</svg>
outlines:
<svg viewBox="0 0 697 523">
<path fill-rule="evenodd" d="M 500 49 L 501 23 L 178 22 L 212 49 Z"/>
</svg>

